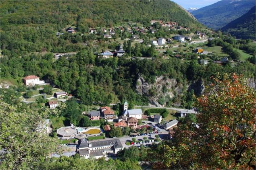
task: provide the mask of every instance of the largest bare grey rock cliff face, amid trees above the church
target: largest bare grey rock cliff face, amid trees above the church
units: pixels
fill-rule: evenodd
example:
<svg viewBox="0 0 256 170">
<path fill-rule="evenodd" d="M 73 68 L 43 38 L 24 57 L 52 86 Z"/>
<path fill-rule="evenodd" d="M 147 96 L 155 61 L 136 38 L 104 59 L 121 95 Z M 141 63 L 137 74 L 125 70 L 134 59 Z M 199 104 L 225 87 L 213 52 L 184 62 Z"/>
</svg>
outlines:
<svg viewBox="0 0 256 170">
<path fill-rule="evenodd" d="M 182 93 L 182 87 L 177 86 L 175 79 L 166 78 L 164 76 L 156 77 L 154 84 L 148 84 L 144 78 L 139 77 L 136 84 L 137 93 L 145 95 L 149 98 L 152 106 L 165 106 L 166 102 L 172 100 L 177 94 Z M 173 103 L 179 106 L 179 100 Z"/>
</svg>

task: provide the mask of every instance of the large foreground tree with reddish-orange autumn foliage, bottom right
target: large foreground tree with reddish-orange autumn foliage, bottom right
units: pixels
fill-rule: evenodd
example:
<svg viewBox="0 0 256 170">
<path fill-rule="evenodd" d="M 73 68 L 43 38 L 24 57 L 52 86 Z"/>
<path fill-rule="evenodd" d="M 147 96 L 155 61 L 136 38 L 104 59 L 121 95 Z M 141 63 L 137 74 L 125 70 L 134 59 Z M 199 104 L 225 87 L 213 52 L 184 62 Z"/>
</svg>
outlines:
<svg viewBox="0 0 256 170">
<path fill-rule="evenodd" d="M 173 141 L 152 151 L 153 168 L 255 169 L 255 94 L 241 76 L 213 78 L 196 102 L 199 127 L 182 121 Z"/>
</svg>

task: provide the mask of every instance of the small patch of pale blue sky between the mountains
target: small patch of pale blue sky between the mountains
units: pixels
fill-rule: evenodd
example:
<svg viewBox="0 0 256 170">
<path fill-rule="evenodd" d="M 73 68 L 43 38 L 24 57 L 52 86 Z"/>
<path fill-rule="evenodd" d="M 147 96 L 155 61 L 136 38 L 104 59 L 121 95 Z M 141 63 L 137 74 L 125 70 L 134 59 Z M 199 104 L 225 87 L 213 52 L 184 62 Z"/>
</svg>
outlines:
<svg viewBox="0 0 256 170">
<path fill-rule="evenodd" d="M 204 6 L 208 6 L 214 4 L 220 0 L 171 0 L 176 2 L 183 8 L 202 8 Z"/>
</svg>

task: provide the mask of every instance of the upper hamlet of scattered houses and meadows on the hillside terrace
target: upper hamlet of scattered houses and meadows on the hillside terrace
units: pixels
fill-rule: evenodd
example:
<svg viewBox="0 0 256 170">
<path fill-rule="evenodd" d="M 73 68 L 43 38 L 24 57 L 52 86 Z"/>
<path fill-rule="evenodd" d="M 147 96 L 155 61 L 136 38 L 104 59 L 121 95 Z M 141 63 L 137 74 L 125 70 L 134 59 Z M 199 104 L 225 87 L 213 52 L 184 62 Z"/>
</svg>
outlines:
<svg viewBox="0 0 256 170">
<path fill-rule="evenodd" d="M 107 44 L 118 43 L 120 44 L 117 49 L 101 49 L 101 52 L 95 52 L 95 55 L 100 58 L 112 58 L 112 57 L 128 57 L 125 46 L 125 41 L 131 41 L 131 46 L 135 46 L 137 43 L 145 44 L 148 47 L 154 47 L 158 56 L 164 59 L 168 59 L 170 56 L 181 59 L 181 62 L 189 60 L 197 60 L 198 64 L 207 65 L 209 62 L 217 63 L 219 65 L 225 65 L 226 63 L 235 64 L 240 62 L 238 60 L 228 61 L 228 54 L 221 51 L 221 47 L 207 47 L 206 43 L 219 37 L 213 37 L 214 32 L 209 30 L 194 31 L 187 27 L 182 27 L 176 22 L 164 22 L 162 20 L 151 20 L 150 27 L 143 27 L 140 23 L 127 23 L 125 26 L 111 27 L 111 28 L 90 28 L 87 34 L 80 34 L 74 27 L 67 27 L 62 30 L 62 33 L 56 33 L 57 37 L 64 35 L 65 33 L 81 35 L 81 37 L 92 36 L 97 39 L 103 39 Z M 175 31 L 180 34 L 170 34 L 169 37 L 161 37 L 164 32 Z M 207 31 L 207 34 L 204 32 Z M 117 36 L 118 34 L 118 36 Z M 120 38 L 118 38 L 120 37 Z M 92 41 L 93 43 L 94 41 Z M 239 51 L 244 61 L 248 54 Z M 54 58 L 68 57 L 75 53 L 54 53 Z M 154 59 L 155 57 L 148 56 L 131 56 L 132 59 Z"/>
</svg>

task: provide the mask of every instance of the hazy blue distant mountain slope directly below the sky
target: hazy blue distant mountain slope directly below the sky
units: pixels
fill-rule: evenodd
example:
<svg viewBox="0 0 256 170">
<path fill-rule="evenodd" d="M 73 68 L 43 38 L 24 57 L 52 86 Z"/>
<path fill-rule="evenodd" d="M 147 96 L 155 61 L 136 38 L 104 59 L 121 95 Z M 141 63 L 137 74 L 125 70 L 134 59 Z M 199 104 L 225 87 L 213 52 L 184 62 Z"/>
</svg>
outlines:
<svg viewBox="0 0 256 170">
<path fill-rule="evenodd" d="M 221 0 L 191 12 L 200 23 L 212 29 L 221 29 L 239 18 L 255 5 L 255 0 Z"/>
</svg>

